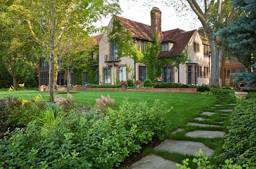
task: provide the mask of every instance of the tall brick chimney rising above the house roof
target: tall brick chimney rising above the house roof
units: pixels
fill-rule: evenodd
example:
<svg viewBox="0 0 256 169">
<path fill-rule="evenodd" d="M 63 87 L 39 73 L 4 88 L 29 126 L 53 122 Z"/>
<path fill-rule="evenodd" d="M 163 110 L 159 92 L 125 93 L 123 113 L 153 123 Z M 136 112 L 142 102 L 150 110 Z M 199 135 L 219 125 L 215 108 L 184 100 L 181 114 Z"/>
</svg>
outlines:
<svg viewBox="0 0 256 169">
<path fill-rule="evenodd" d="M 150 11 L 151 16 L 151 36 L 154 38 L 154 35 L 157 35 L 158 41 L 161 42 L 163 35 L 162 35 L 162 19 L 161 19 L 162 12 L 157 7 L 153 7 Z"/>
</svg>

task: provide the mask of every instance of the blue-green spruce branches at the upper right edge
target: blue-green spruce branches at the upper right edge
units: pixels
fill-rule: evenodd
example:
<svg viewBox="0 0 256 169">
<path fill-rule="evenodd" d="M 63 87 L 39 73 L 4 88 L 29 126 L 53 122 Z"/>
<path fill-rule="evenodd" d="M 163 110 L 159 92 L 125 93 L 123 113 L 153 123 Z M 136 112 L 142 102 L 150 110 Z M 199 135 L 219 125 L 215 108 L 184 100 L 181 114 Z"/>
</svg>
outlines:
<svg viewBox="0 0 256 169">
<path fill-rule="evenodd" d="M 252 65 L 256 63 L 256 1 L 233 0 L 231 5 L 238 8 L 242 15 L 229 26 L 220 29 L 216 35 L 227 44 L 226 50 L 232 56 L 237 57 L 248 70 L 252 70 Z"/>
</svg>

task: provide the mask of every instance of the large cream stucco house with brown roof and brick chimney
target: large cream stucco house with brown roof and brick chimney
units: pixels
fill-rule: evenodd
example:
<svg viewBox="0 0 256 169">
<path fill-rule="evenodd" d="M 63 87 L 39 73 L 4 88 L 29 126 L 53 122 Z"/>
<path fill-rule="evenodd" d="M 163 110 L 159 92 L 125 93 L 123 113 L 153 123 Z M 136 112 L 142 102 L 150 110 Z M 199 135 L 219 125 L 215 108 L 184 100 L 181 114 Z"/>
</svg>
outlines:
<svg viewBox="0 0 256 169">
<path fill-rule="evenodd" d="M 152 8 L 151 25 L 138 23 L 133 20 L 128 20 L 123 17 L 113 16 L 108 28 L 104 34 L 97 35 L 94 38 L 98 42 L 98 49 L 92 58 L 96 60 L 91 66 L 96 70 L 96 84 L 116 84 L 121 80 L 139 79 L 144 82 L 147 79 L 147 65 L 140 62 L 135 62 L 131 56 L 118 56 L 118 45 L 115 39 L 108 39 L 109 31 L 113 28 L 114 19 L 125 27 L 125 29 L 133 37 L 133 42 L 136 43 L 137 51 L 143 51 L 147 48 L 148 43 L 154 42 L 156 35 L 160 43 L 160 54 L 158 59 L 175 58 L 186 53 L 188 61 L 179 63 L 175 66 L 173 64 L 163 65 L 161 68 L 161 76 L 163 82 L 182 83 L 202 85 L 209 84 L 210 74 L 210 49 L 207 39 L 203 36 L 202 30 L 184 31 L 179 28 L 162 31 L 161 30 L 161 11 L 159 8 Z M 242 65 L 234 65 L 227 63 L 223 59 L 221 66 L 221 85 L 229 85 L 227 76 L 233 73 L 234 68 L 242 68 Z M 232 65 L 233 64 L 233 65 Z M 239 63 L 238 63 L 239 64 Z M 39 62 L 39 86 L 48 85 L 49 65 L 41 59 Z M 227 67 L 230 66 L 230 67 Z M 130 70 L 130 71 L 128 71 Z M 76 71 L 76 70 L 75 70 Z M 225 76 L 223 76 L 225 74 Z M 91 83 L 88 80 L 88 70 L 81 73 L 82 84 L 77 84 L 74 73 L 71 74 L 71 84 L 86 85 Z M 225 79 L 225 78 L 226 79 Z M 57 85 L 64 85 L 66 75 L 64 72 L 58 72 Z M 95 83 L 95 82 L 94 82 Z"/>
</svg>

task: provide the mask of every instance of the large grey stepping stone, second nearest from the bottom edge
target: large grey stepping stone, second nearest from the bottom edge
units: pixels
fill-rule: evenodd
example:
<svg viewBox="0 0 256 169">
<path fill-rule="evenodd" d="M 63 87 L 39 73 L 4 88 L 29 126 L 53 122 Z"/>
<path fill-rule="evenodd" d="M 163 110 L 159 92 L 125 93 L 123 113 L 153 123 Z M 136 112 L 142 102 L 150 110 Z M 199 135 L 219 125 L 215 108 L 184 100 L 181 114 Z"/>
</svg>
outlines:
<svg viewBox="0 0 256 169">
<path fill-rule="evenodd" d="M 205 146 L 203 143 L 200 142 L 169 139 L 166 139 L 154 149 L 190 155 L 195 155 L 195 152 L 197 152 L 199 149 L 202 149 L 204 154 L 208 156 L 211 156 L 214 153 L 213 149 L 210 149 L 209 147 Z"/>
</svg>

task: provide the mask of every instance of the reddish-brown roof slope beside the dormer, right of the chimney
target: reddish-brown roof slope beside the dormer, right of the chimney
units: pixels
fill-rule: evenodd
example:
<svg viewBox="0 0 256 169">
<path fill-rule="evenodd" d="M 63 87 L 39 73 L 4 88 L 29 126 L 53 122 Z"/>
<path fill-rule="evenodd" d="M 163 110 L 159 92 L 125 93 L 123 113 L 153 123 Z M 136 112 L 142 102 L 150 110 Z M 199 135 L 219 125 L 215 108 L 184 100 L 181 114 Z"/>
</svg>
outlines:
<svg viewBox="0 0 256 169">
<path fill-rule="evenodd" d="M 177 31 L 180 31 L 180 30 L 177 30 Z M 192 35 L 195 33 L 196 30 L 187 31 L 187 32 L 180 31 L 179 34 L 177 34 L 177 31 L 173 32 L 174 39 L 175 39 L 175 43 L 173 47 L 171 48 L 170 51 L 161 52 L 158 56 L 159 58 L 180 55 L 183 52 L 186 45 L 189 43 L 189 40 L 191 39 Z M 169 36 L 171 37 L 171 35 L 172 34 L 170 34 Z"/>
</svg>

